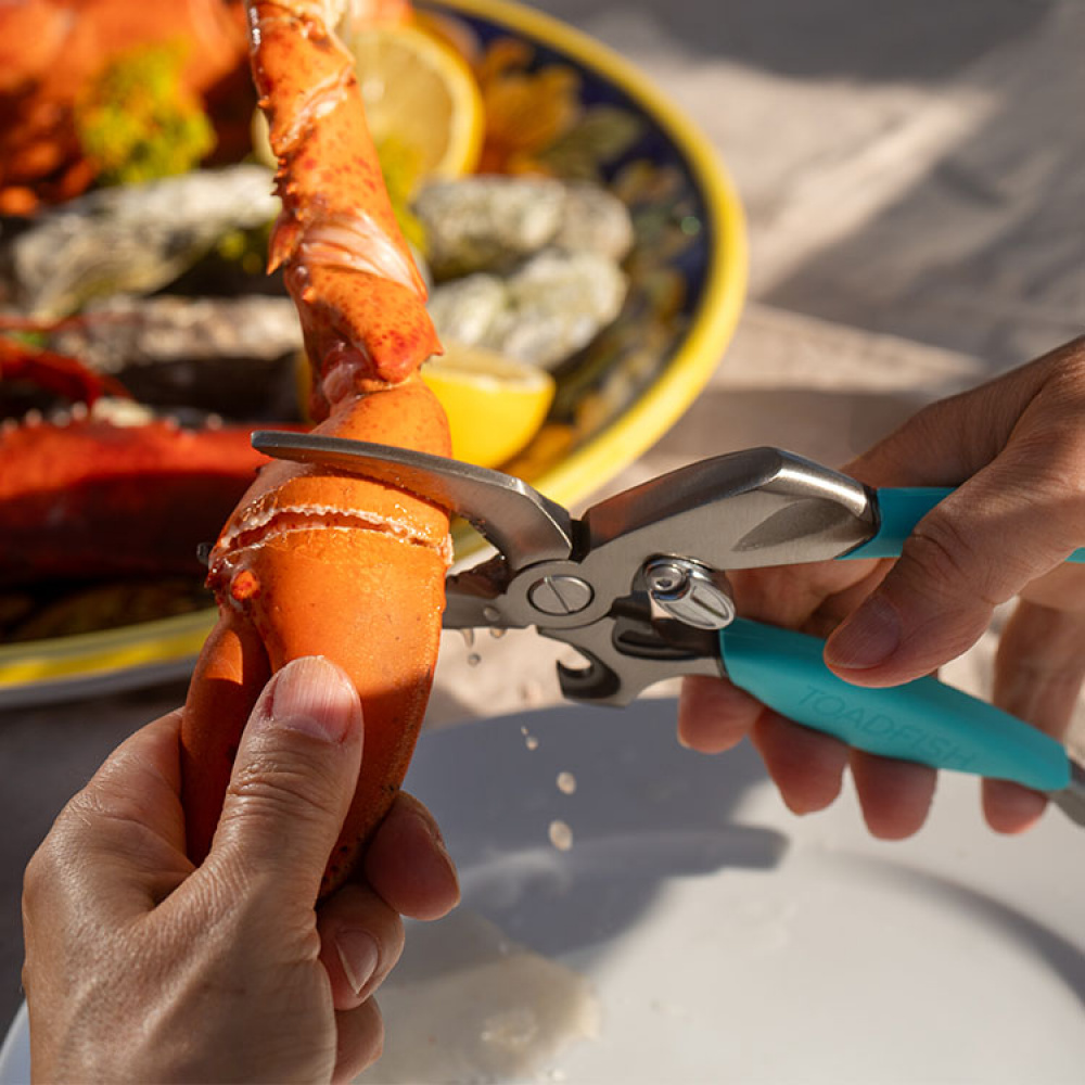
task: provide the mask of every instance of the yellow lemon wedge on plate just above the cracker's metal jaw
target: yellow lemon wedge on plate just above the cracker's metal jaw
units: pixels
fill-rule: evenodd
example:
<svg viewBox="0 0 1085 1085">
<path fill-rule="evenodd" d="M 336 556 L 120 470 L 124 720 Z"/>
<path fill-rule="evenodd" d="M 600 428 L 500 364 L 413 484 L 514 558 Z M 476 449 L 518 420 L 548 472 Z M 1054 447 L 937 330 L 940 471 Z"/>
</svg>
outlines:
<svg viewBox="0 0 1085 1085">
<path fill-rule="evenodd" d="M 452 433 L 452 456 L 494 468 L 535 436 L 553 400 L 544 369 L 492 350 L 445 344 L 422 367 L 422 380 L 441 400 Z"/>
</svg>

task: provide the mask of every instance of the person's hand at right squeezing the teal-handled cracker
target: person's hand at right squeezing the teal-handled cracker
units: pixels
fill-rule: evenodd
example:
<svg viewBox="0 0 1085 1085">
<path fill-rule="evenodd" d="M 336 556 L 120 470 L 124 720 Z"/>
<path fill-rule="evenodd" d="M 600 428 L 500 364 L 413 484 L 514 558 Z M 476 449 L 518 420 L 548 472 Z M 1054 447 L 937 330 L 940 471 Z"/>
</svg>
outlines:
<svg viewBox="0 0 1085 1085">
<path fill-rule="evenodd" d="M 1085 678 L 1085 339 L 933 404 L 843 469 L 870 486 L 958 486 L 901 558 L 822 562 L 731 576 L 739 613 L 828 637 L 825 661 L 859 686 L 929 674 L 1018 602 L 995 662 L 996 705 L 1062 739 Z M 850 750 L 765 709 L 727 681 L 688 678 L 684 744 L 715 753 L 749 735 L 795 813 L 828 806 L 851 768 L 870 831 L 917 831 L 934 794 L 924 766 Z M 988 824 L 1018 832 L 1046 799 L 983 781 Z"/>
</svg>

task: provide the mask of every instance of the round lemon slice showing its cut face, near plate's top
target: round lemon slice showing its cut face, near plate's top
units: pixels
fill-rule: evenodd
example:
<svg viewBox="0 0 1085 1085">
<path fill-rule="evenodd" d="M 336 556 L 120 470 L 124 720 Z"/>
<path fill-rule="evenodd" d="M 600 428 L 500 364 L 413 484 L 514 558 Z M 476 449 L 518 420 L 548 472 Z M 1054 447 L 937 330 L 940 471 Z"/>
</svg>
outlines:
<svg viewBox="0 0 1085 1085">
<path fill-rule="evenodd" d="M 378 148 L 395 148 L 419 178 L 471 173 L 485 118 L 478 85 L 456 49 L 395 23 L 369 26 L 347 44 Z"/>
</svg>

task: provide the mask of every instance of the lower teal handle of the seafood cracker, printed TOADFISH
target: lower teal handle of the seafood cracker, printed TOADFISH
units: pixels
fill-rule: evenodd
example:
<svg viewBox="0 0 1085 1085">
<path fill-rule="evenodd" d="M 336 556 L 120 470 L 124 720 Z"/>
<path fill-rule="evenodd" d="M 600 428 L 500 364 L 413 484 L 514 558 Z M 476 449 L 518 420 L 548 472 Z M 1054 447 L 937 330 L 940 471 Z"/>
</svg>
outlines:
<svg viewBox="0 0 1085 1085">
<path fill-rule="evenodd" d="M 731 681 L 799 724 L 883 757 L 1039 791 L 1070 784 L 1065 750 L 1024 720 L 932 677 L 884 689 L 853 686 L 825 665 L 824 649 L 817 637 L 746 618 L 719 631 Z"/>
</svg>

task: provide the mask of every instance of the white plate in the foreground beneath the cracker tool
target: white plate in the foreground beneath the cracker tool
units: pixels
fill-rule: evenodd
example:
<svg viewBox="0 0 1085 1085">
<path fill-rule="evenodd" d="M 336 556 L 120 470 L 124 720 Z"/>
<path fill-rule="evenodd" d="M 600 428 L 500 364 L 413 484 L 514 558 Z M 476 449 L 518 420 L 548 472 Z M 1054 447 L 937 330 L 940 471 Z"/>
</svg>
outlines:
<svg viewBox="0 0 1085 1085">
<path fill-rule="evenodd" d="M 366 1082 L 1085 1080 L 1081 829 L 996 837 L 945 776 L 928 827 L 879 843 L 851 794 L 795 818 L 753 754 L 681 750 L 674 719 L 642 700 L 423 737 L 408 787 L 464 905 L 412 928 Z M 2 1083 L 27 1080 L 14 1033 Z"/>
</svg>

